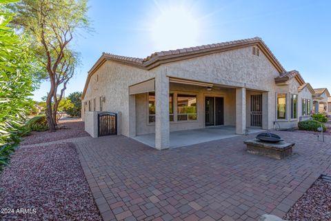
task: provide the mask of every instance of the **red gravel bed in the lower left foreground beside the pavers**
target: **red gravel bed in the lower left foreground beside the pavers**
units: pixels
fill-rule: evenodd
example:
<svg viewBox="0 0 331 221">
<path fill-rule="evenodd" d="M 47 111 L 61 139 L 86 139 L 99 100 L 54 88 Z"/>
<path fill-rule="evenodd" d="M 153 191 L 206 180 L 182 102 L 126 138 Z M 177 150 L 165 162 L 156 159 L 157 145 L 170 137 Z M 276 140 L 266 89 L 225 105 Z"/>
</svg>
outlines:
<svg viewBox="0 0 331 221">
<path fill-rule="evenodd" d="M 2 210 L 2 220 L 102 220 L 74 144 L 19 148 L 0 186 L 0 209 L 14 209 Z"/>
</svg>

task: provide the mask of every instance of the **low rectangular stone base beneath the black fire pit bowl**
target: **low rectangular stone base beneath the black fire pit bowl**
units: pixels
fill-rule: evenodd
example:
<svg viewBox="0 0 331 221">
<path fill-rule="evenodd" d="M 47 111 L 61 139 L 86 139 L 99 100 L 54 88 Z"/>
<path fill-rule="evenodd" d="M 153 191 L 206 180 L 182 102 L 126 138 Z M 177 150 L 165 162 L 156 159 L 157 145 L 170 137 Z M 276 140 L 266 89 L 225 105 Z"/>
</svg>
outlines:
<svg viewBox="0 0 331 221">
<path fill-rule="evenodd" d="M 277 160 L 281 160 L 289 155 L 292 155 L 292 147 L 294 146 L 294 143 L 287 143 L 283 140 L 276 143 L 270 143 L 263 142 L 259 139 L 246 140 L 244 144 L 247 146 L 248 153 L 264 155 Z"/>
</svg>

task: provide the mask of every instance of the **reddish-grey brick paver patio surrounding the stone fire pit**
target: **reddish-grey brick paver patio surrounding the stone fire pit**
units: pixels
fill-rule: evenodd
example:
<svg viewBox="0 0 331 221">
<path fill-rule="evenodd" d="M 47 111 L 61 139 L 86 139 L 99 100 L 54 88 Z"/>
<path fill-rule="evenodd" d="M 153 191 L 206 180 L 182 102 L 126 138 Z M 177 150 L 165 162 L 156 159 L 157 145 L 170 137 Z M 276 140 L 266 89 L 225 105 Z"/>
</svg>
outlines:
<svg viewBox="0 0 331 221">
<path fill-rule="evenodd" d="M 321 173 L 331 174 L 331 136 L 277 132 L 294 155 L 245 152 L 232 137 L 157 151 L 123 136 L 74 141 L 104 220 L 257 220 L 282 217 Z"/>
</svg>

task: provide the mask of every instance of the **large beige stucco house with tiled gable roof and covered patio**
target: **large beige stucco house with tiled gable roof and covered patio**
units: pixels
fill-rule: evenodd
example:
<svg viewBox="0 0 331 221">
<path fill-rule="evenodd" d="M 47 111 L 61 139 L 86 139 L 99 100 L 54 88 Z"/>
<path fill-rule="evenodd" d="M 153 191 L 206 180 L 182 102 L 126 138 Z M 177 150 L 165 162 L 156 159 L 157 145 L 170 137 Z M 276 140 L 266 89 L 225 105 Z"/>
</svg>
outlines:
<svg viewBox="0 0 331 221">
<path fill-rule="evenodd" d="M 309 117 L 315 91 L 286 71 L 259 37 L 155 52 L 141 59 L 103 53 L 88 73 L 82 115 L 121 112 L 121 134 L 154 134 L 233 126 L 272 129 Z"/>
</svg>

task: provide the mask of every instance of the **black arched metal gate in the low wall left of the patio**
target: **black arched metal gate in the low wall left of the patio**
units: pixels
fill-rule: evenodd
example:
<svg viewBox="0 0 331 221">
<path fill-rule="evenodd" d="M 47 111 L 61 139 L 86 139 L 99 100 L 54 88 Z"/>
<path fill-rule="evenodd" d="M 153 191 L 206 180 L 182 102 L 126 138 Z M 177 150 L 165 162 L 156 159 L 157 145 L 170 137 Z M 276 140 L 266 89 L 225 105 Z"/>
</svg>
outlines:
<svg viewBox="0 0 331 221">
<path fill-rule="evenodd" d="M 117 114 L 98 114 L 98 136 L 117 135 Z"/>
</svg>

